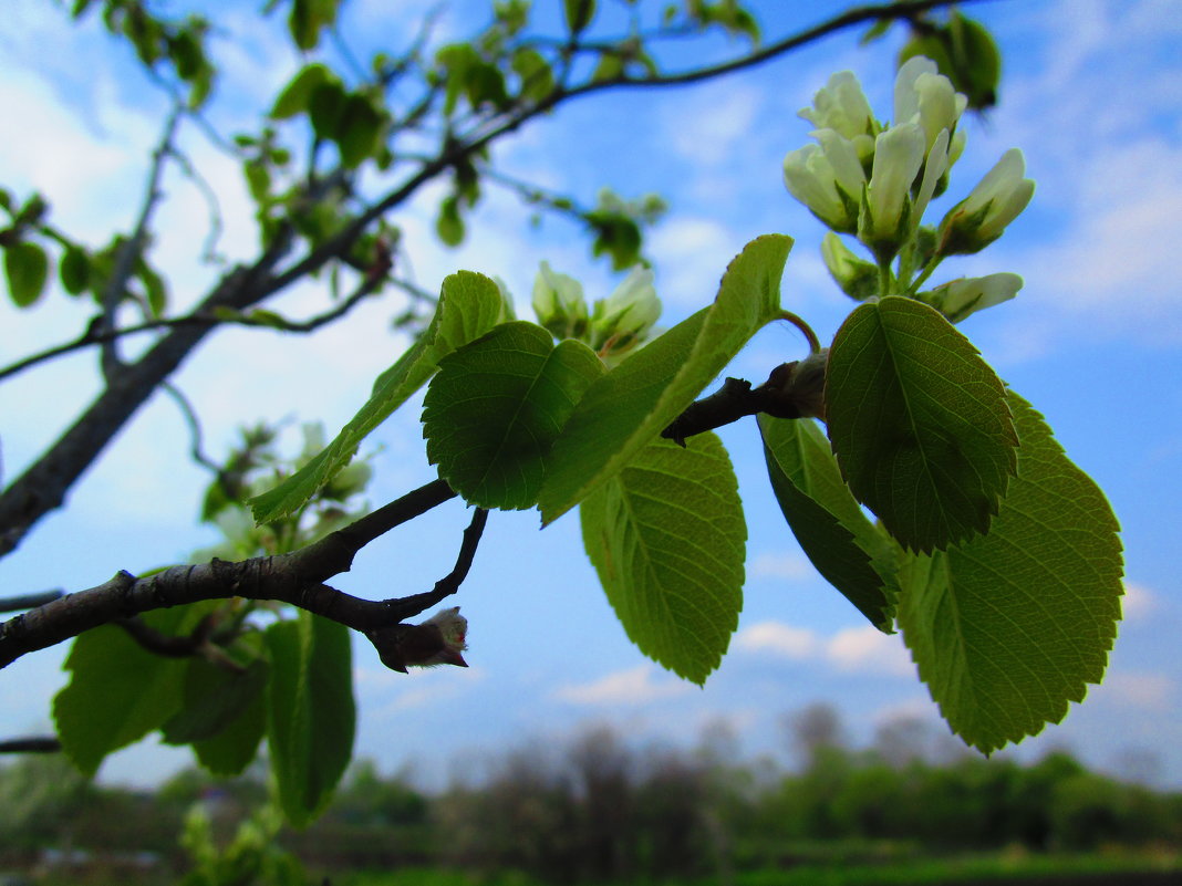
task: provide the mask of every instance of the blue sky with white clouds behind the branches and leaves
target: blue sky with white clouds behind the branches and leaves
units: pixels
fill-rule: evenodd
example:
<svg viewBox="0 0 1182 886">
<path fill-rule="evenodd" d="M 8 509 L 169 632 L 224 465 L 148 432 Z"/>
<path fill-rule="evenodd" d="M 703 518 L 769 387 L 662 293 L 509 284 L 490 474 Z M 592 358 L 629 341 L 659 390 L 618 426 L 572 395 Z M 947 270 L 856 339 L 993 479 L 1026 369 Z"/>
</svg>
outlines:
<svg viewBox="0 0 1182 886">
<path fill-rule="evenodd" d="M 102 38 L 93 22 L 66 27 L 51 5 L 34 0 L 9 6 L 0 33 L 0 184 L 41 190 L 61 226 L 98 245 L 130 224 L 163 103 L 137 77 L 125 48 Z M 255 6 L 206 5 L 226 34 L 216 48 L 226 79 L 214 116 L 228 131 L 249 129 L 298 65 L 277 33 L 254 20 Z M 441 20 L 441 35 L 465 33 L 466 15 L 480 8 L 456 6 Z M 842 8 L 755 6 L 769 37 Z M 362 46 L 403 45 L 415 17 L 390 21 L 388 9 L 381 0 L 356 0 L 344 15 L 345 34 Z M 1126 549 L 1125 621 L 1105 684 L 1063 725 L 1017 753 L 1066 744 L 1113 767 L 1129 750 L 1148 750 L 1160 761 L 1160 777 L 1180 786 L 1182 17 L 1169 0 L 1000 0 L 968 12 L 999 39 L 1001 102 L 986 119 L 969 120 L 949 195 L 931 214 L 939 217 L 1011 146 L 1022 149 L 1038 190 L 1001 241 L 949 268 L 1013 272 L 1026 281 L 1017 300 L 961 328 L 1105 489 Z M 858 47 L 850 32 L 704 86 L 590 97 L 522 130 L 495 157 L 506 170 L 570 189 L 583 202 L 592 202 L 599 185 L 629 196 L 662 194 L 670 210 L 648 252 L 667 323 L 713 298 L 726 263 L 748 240 L 768 232 L 794 236 L 784 304 L 831 337 L 852 302 L 829 281 L 818 253 L 824 232 L 785 191 L 780 163 L 807 138 L 810 126 L 797 111 L 833 71 L 855 71 L 878 116 L 889 116 L 898 37 Z M 709 51 L 739 48 L 719 40 Z M 190 156 L 222 195 L 222 247 L 246 256 L 255 233 L 240 174 L 189 135 Z M 169 178 L 165 188 L 156 255 L 183 306 L 210 279 L 196 262 L 206 209 L 182 178 Z M 424 195 L 397 219 L 427 288 L 459 268 L 496 274 L 527 314 L 541 260 L 582 279 L 592 298 L 617 280 L 590 259 L 576 230 L 553 220 L 531 228 L 528 210 L 494 189 L 468 241 L 446 249 L 431 236 L 440 196 Z M 305 287 L 279 307 L 299 314 L 318 295 Z M 323 419 L 335 432 L 404 347 L 388 332 L 396 312 L 391 298 L 303 341 L 254 331 L 207 344 L 176 379 L 203 416 L 207 448 L 223 451 L 235 426 L 256 418 Z M 60 341 L 83 321 L 60 295 L 24 313 L 0 307 L 0 363 Z M 729 373 L 762 378 L 803 351 L 797 334 L 769 328 Z M 5 477 L 15 476 L 97 390 L 93 363 L 92 354 L 72 356 L 0 385 Z M 372 461 L 376 503 L 433 476 L 417 419 L 415 402 L 371 441 L 381 448 Z M 804 561 L 767 489 L 753 424 L 722 436 L 747 510 L 747 585 L 730 653 L 703 690 L 629 644 L 582 553 L 576 517 L 539 532 L 533 513 L 494 514 L 455 600 L 470 619 L 472 667 L 402 676 L 382 667 L 368 644 L 355 644 L 358 753 L 388 769 L 409 761 L 437 776 L 455 755 L 561 736 L 589 722 L 675 743 L 694 742 L 707 724 L 725 722 L 745 753 L 756 754 L 782 749 L 781 715 L 817 701 L 834 704 L 856 740 L 896 716 L 934 721 L 935 706 L 898 638 L 870 628 Z M 0 561 L 0 593 L 89 587 L 118 568 L 151 568 L 209 543 L 209 530 L 194 522 L 206 477 L 184 463 L 186 447 L 175 405 L 152 400 L 84 477 L 70 507 Z M 460 503 L 441 507 L 366 548 L 337 585 L 371 598 L 424 589 L 450 568 L 466 522 Z M 0 672 L 0 735 L 48 725 L 61 658 L 63 650 L 48 650 Z M 184 762 L 182 753 L 149 742 L 112 757 L 104 776 L 150 781 Z"/>
</svg>

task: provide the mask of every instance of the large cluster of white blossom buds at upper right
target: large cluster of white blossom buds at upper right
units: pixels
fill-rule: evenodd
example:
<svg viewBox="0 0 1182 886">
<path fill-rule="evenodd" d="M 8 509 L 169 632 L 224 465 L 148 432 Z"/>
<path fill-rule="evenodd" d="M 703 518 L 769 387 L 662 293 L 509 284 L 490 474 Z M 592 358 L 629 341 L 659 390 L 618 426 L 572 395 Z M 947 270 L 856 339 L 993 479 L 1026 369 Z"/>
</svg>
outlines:
<svg viewBox="0 0 1182 886">
<path fill-rule="evenodd" d="M 800 111 L 817 126 L 811 133 L 816 144 L 784 158 L 784 181 L 833 232 L 821 253 L 849 295 L 913 295 L 957 321 L 1012 299 L 1021 288 L 1017 274 L 991 274 L 916 292 L 943 258 L 979 252 L 1001 236 L 1034 193 L 1034 182 L 1024 177 L 1021 151 L 1012 149 L 939 228 L 922 224 L 928 203 L 948 187 L 952 167 L 965 150 L 957 124 L 966 106 L 965 96 L 937 73 L 936 64 L 917 57 L 903 64 L 895 79 L 890 125 L 875 119 L 850 71 L 830 77 L 812 108 Z M 838 234 L 856 235 L 873 262 L 859 259 Z"/>
</svg>

